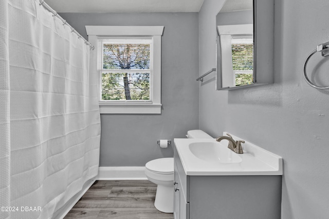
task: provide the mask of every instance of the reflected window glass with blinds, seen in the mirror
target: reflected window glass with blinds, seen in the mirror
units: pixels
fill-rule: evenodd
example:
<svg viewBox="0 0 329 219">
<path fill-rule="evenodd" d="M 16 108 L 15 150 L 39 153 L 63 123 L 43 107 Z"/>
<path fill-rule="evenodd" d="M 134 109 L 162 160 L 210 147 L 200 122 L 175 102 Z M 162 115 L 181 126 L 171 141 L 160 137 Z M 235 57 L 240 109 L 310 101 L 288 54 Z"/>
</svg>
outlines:
<svg viewBox="0 0 329 219">
<path fill-rule="evenodd" d="M 235 85 L 253 83 L 253 42 L 252 39 L 232 39 L 232 63 Z"/>
</svg>

